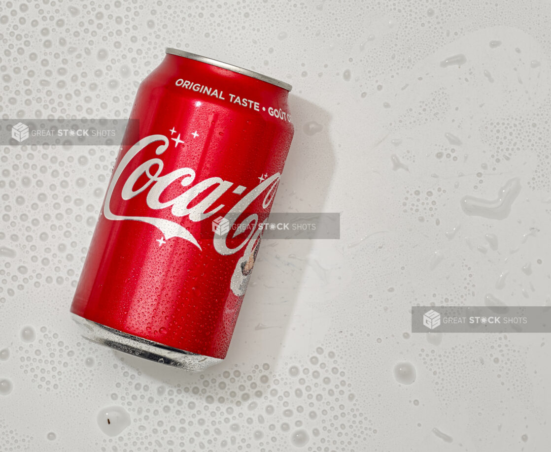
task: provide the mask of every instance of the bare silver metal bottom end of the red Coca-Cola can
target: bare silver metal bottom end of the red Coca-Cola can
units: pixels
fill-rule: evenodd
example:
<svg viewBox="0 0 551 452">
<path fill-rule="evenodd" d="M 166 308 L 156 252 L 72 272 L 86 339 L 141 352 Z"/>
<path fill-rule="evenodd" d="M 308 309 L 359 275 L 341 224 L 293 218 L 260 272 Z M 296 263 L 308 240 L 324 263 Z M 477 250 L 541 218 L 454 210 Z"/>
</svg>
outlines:
<svg viewBox="0 0 551 452">
<path fill-rule="evenodd" d="M 71 313 L 71 316 L 80 326 L 80 334 L 84 339 L 149 361 L 191 372 L 202 372 L 208 367 L 223 361 L 220 358 L 178 350 L 143 337 L 133 336 L 109 326 L 92 322 L 74 313 Z"/>
</svg>

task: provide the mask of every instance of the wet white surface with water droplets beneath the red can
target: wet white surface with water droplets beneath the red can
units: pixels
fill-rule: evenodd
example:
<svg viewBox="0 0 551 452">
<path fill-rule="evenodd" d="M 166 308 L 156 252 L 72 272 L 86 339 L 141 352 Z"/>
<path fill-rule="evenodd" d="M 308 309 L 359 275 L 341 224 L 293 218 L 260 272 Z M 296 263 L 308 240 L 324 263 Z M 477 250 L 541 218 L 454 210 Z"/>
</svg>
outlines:
<svg viewBox="0 0 551 452">
<path fill-rule="evenodd" d="M 69 317 L 117 147 L 0 146 L 0 450 L 548 450 L 548 335 L 410 335 L 409 308 L 550 302 L 550 15 L 2 1 L 4 118 L 125 118 L 182 48 L 293 84 L 272 210 L 342 215 L 338 241 L 263 242 L 228 357 L 188 374 L 88 344 Z M 463 212 L 515 177 L 505 219 Z M 115 437 L 98 426 L 109 406 L 131 418 Z"/>
</svg>

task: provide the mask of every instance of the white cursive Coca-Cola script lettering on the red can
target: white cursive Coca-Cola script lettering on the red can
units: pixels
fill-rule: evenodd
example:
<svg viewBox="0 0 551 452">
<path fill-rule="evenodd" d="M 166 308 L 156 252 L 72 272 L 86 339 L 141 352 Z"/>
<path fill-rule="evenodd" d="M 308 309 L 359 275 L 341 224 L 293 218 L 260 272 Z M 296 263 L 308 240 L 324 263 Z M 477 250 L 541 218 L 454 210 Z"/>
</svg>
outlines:
<svg viewBox="0 0 551 452">
<path fill-rule="evenodd" d="M 166 138 L 165 135 L 150 135 L 149 137 L 139 140 L 122 158 L 120 164 L 115 169 L 113 178 L 109 188 L 107 189 L 103 213 L 109 220 L 134 220 L 149 223 L 159 228 L 159 230 L 163 232 L 166 239 L 180 237 L 190 243 L 193 243 L 197 248 L 201 249 L 197 239 L 193 237 L 191 232 L 174 221 L 155 216 L 116 215 L 111 211 L 111 198 L 115 186 L 119 182 L 123 171 L 128 166 L 129 162 L 136 157 L 136 155 L 138 155 L 148 145 L 155 143 L 155 141 L 160 141 L 159 146 L 155 150 L 155 154 L 160 156 L 169 146 L 169 139 Z M 233 182 L 224 181 L 220 177 L 209 177 L 191 186 L 192 182 L 195 180 L 195 171 L 191 168 L 178 168 L 177 170 L 166 173 L 165 175 L 161 175 L 163 172 L 163 167 L 164 162 L 160 158 L 150 159 L 139 165 L 124 182 L 121 192 L 122 199 L 131 199 L 149 188 L 149 192 L 146 197 L 146 204 L 150 209 L 161 210 L 170 208 L 172 215 L 178 217 L 187 216 L 188 219 L 195 222 L 205 220 L 217 213 L 220 209 L 224 208 L 224 204 L 219 204 L 217 206 L 214 206 L 214 204 L 217 203 L 219 198 L 234 185 Z M 155 168 L 155 170 L 152 170 L 152 168 Z M 138 179 L 142 176 L 147 178 L 147 182 L 145 182 L 141 187 L 134 189 Z M 239 202 L 237 202 L 233 208 L 229 210 L 228 214 L 225 216 L 225 219 L 229 221 L 230 230 L 249 231 L 249 235 L 247 235 L 240 242 L 240 244 L 234 248 L 228 247 L 228 243 L 226 242 L 227 236 L 214 236 L 214 249 L 217 250 L 219 254 L 234 254 L 247 244 L 249 239 L 253 236 L 253 233 L 255 233 L 256 226 L 258 224 L 258 215 L 251 214 L 247 216 L 240 225 L 234 225 L 235 221 L 242 213 L 244 213 L 247 207 L 249 207 L 249 205 L 251 205 L 251 203 L 260 197 L 260 195 L 264 192 L 266 193 L 264 194 L 264 199 L 262 200 L 262 208 L 266 209 L 272 203 L 274 195 L 276 194 L 279 178 L 280 173 L 275 173 L 274 175 L 267 177 L 261 181 L 258 186 L 250 190 L 249 193 L 245 194 L 245 196 L 242 197 Z M 169 187 L 171 183 L 177 181 L 178 179 L 181 179 L 180 184 L 182 187 L 190 188 L 177 195 L 174 199 L 161 202 L 159 198 L 161 197 L 163 191 Z M 213 189 L 212 187 L 215 188 Z M 202 193 L 206 193 L 206 190 L 208 190 L 209 194 L 204 197 L 201 202 L 190 207 L 193 200 Z M 234 191 L 234 193 L 236 192 Z M 208 213 L 206 213 L 207 210 Z M 245 236 L 245 233 L 242 235 Z M 255 239 L 257 236 L 258 235 L 255 235 Z"/>
</svg>

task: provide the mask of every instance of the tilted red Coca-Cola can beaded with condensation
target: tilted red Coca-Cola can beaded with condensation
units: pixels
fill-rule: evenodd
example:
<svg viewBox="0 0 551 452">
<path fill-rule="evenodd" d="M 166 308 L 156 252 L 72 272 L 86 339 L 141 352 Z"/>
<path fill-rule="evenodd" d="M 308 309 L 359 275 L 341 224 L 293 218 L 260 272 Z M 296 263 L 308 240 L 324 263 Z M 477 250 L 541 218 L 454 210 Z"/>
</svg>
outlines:
<svg viewBox="0 0 551 452">
<path fill-rule="evenodd" d="M 121 146 L 74 295 L 84 337 L 193 371 L 224 359 L 293 138 L 290 90 L 166 50 L 139 86 L 137 141 Z"/>
</svg>

